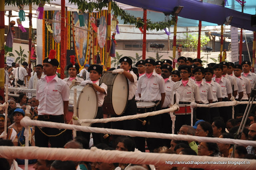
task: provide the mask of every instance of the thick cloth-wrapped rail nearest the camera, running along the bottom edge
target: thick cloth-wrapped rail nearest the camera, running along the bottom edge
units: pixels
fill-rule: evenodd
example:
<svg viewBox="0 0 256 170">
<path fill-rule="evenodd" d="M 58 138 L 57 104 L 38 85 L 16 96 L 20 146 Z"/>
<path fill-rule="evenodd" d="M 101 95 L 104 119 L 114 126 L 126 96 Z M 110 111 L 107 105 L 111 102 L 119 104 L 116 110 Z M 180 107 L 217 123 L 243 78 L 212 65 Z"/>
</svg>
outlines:
<svg viewBox="0 0 256 170">
<path fill-rule="evenodd" d="M 194 156 L 180 154 L 159 154 L 146 152 L 125 152 L 118 150 L 101 150 L 96 147 L 87 149 L 67 148 L 40 148 L 36 146 L 0 146 L 0 157 L 7 159 L 44 159 L 44 160 L 72 160 L 87 162 L 106 163 L 132 163 L 132 164 L 154 164 L 166 165 L 173 161 L 170 166 L 181 166 L 190 168 L 222 169 L 222 170 L 255 170 L 256 160 L 238 158 L 223 158 L 210 156 Z M 178 162 L 182 162 L 178 164 Z M 184 161 L 190 161 L 185 164 Z M 192 163 L 194 161 L 194 163 Z M 212 163 L 210 163 L 212 161 Z M 214 164 L 213 161 L 218 162 Z M 228 163 L 233 162 L 233 163 Z M 166 163 L 167 162 L 167 163 Z M 202 163 L 205 162 L 205 163 Z M 221 162 L 221 163 L 220 163 Z M 171 163 L 171 162 L 170 162 Z M 176 164 L 174 164 L 176 163 Z M 240 165 L 238 165 L 240 163 Z M 236 164 L 236 165 L 235 165 Z"/>
</svg>

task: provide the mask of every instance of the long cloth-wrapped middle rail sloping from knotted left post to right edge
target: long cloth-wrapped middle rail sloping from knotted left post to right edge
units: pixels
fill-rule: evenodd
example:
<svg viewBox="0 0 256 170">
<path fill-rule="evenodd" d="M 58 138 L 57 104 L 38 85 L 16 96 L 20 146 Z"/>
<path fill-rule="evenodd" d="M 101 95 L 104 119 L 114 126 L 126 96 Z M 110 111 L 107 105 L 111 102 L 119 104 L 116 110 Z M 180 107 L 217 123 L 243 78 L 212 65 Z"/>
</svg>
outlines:
<svg viewBox="0 0 256 170">
<path fill-rule="evenodd" d="M 144 137 L 144 138 L 161 138 L 161 139 L 174 139 L 174 140 L 187 140 L 187 141 L 198 141 L 198 142 L 213 142 L 213 143 L 223 143 L 223 144 L 256 146 L 256 141 L 249 141 L 249 140 L 210 138 L 210 137 L 181 135 L 181 134 L 164 134 L 164 133 L 156 133 L 156 132 L 140 132 L 140 131 L 133 131 L 133 130 L 119 130 L 119 129 L 108 129 L 108 128 L 94 128 L 94 127 L 88 127 L 88 126 L 78 126 L 74 124 L 31 120 L 28 116 L 25 116 L 24 118 L 22 118 L 22 120 L 20 121 L 20 124 L 24 127 L 31 125 L 31 126 L 40 126 L 40 127 L 48 127 L 48 128 L 70 129 L 70 130 L 83 131 L 83 132 L 124 135 L 124 136 L 132 136 L 132 137 L 138 136 L 138 137 Z"/>
</svg>

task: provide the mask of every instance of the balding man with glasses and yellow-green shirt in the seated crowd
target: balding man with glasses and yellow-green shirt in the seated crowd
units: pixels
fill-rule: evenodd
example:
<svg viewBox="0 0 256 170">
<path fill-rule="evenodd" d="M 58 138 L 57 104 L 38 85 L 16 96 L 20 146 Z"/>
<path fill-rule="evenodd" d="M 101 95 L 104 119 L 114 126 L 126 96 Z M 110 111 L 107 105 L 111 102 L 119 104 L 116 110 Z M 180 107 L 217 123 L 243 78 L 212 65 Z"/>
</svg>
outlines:
<svg viewBox="0 0 256 170">
<path fill-rule="evenodd" d="M 183 125 L 183 126 L 181 126 L 181 128 L 177 134 L 195 136 L 196 130 L 192 126 Z M 197 147 L 197 144 L 195 141 L 188 141 L 188 145 L 190 146 L 190 148 L 192 150 L 194 150 L 196 152 L 196 154 L 198 154 L 198 147 Z"/>
</svg>

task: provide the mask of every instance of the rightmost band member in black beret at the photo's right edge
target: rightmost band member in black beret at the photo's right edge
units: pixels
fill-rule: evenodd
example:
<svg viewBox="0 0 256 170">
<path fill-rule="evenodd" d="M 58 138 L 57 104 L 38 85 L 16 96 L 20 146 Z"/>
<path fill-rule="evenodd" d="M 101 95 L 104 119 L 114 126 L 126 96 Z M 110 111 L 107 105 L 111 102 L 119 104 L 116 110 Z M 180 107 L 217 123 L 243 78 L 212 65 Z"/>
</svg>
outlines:
<svg viewBox="0 0 256 170">
<path fill-rule="evenodd" d="M 254 83 L 256 81 L 256 74 L 255 73 L 252 73 L 250 70 L 252 69 L 252 66 L 251 66 L 251 62 L 250 61 L 247 61 L 247 60 L 244 60 L 242 63 L 242 68 L 243 68 L 243 71 L 242 72 L 242 76 L 245 77 L 245 78 L 248 78 L 250 80 L 250 83 L 252 85 L 252 88 L 254 87 Z"/>
</svg>

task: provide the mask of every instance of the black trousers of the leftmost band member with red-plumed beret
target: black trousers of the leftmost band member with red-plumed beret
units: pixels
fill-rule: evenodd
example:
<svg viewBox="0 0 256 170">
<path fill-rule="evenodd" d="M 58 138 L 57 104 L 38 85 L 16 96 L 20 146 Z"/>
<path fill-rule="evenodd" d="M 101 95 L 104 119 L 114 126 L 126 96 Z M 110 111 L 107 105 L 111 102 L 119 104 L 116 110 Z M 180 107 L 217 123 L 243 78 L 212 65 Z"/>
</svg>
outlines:
<svg viewBox="0 0 256 170">
<path fill-rule="evenodd" d="M 60 116 L 52 116 L 50 115 L 50 118 L 46 118 L 46 116 L 38 116 L 38 120 L 46 121 L 46 122 L 57 122 L 57 123 L 64 123 L 64 115 Z M 48 135 L 56 135 L 62 132 L 64 129 L 58 129 L 58 128 L 41 128 L 42 131 Z M 65 133 L 65 132 L 64 132 Z M 52 148 L 63 148 L 63 146 L 66 144 L 66 138 L 64 138 L 64 133 L 54 136 L 54 137 L 48 137 L 45 134 L 43 134 L 37 126 L 35 126 L 35 142 L 36 146 L 39 147 L 48 147 L 48 141 L 50 141 Z"/>
</svg>

